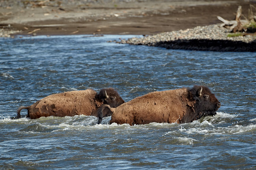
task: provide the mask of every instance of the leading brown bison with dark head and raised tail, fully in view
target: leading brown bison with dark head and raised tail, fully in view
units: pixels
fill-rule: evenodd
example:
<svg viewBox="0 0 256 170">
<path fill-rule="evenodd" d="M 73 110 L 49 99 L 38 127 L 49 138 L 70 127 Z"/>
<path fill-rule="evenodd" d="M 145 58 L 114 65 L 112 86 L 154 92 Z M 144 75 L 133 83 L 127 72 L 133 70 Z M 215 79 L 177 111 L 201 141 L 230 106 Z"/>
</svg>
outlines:
<svg viewBox="0 0 256 170">
<path fill-rule="evenodd" d="M 151 92 L 116 108 L 101 105 L 97 123 L 101 123 L 104 114 L 109 111 L 112 113 L 110 123 L 188 123 L 204 115 L 215 115 L 219 107 L 221 103 L 208 87 L 194 86 Z"/>
</svg>

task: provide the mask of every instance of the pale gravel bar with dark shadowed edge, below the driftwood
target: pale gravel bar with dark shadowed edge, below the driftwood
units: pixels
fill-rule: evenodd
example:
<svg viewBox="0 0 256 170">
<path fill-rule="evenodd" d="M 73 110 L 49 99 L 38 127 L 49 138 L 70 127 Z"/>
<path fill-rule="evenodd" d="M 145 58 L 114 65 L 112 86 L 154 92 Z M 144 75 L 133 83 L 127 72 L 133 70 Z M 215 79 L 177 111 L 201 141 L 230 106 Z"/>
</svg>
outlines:
<svg viewBox="0 0 256 170">
<path fill-rule="evenodd" d="M 200 50 L 200 51 L 235 51 L 255 52 L 256 35 L 228 37 L 230 30 L 220 24 L 195 27 L 192 29 L 164 32 L 141 38 L 122 39 L 116 43 L 164 47 L 167 49 Z"/>
</svg>

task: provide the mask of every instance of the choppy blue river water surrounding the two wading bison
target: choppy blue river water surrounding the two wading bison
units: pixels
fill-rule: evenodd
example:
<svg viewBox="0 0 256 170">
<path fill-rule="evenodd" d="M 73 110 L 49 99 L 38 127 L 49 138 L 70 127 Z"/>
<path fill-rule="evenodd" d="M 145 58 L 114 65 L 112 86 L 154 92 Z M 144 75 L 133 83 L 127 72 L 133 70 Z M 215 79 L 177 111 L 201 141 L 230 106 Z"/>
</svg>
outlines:
<svg viewBox="0 0 256 170">
<path fill-rule="evenodd" d="M 106 43 L 119 37 L 131 36 L 0 39 L 0 169 L 256 169 L 256 53 Z M 129 101 L 194 84 L 222 103 L 216 116 L 134 126 L 10 119 L 63 91 L 114 87 Z"/>
</svg>

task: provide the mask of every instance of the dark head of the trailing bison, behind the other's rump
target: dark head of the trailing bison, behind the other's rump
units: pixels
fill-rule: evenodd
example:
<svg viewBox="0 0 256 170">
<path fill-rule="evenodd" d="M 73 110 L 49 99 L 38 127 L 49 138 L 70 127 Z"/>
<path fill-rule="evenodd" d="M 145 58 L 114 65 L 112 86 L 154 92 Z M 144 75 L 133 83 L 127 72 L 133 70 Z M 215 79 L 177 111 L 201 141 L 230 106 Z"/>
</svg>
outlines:
<svg viewBox="0 0 256 170">
<path fill-rule="evenodd" d="M 97 96 L 103 104 L 108 104 L 110 107 L 117 107 L 125 102 L 113 88 L 103 88 Z"/>
</svg>

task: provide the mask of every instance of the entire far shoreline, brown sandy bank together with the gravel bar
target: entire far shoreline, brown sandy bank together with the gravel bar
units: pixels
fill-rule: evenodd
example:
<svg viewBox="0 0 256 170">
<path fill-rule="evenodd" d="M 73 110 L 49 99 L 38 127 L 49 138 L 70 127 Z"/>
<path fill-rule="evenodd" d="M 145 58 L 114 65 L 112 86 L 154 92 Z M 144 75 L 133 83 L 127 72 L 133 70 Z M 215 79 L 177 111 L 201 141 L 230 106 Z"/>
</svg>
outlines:
<svg viewBox="0 0 256 170">
<path fill-rule="evenodd" d="M 167 49 L 255 51 L 256 36 L 227 37 L 229 30 L 212 27 L 220 23 L 217 16 L 232 20 L 239 5 L 246 13 L 250 4 L 256 6 L 255 1 L 62 0 L 58 4 L 57 0 L 46 0 L 42 4 L 31 1 L 27 6 L 17 1 L 2 3 L 9 1 L 0 4 L 0 37 L 144 35 L 119 43 Z"/>
</svg>

